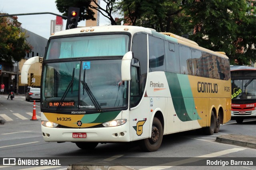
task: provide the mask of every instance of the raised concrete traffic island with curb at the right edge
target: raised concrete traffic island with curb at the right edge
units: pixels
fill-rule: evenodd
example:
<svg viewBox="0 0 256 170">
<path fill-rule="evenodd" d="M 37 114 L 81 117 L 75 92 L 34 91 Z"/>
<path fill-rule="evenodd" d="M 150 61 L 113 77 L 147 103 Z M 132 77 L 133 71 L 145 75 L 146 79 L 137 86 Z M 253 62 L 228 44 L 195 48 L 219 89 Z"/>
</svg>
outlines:
<svg viewBox="0 0 256 170">
<path fill-rule="evenodd" d="M 256 149 L 256 137 L 254 136 L 222 135 L 216 138 L 216 142 Z"/>
</svg>

